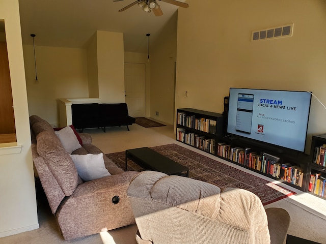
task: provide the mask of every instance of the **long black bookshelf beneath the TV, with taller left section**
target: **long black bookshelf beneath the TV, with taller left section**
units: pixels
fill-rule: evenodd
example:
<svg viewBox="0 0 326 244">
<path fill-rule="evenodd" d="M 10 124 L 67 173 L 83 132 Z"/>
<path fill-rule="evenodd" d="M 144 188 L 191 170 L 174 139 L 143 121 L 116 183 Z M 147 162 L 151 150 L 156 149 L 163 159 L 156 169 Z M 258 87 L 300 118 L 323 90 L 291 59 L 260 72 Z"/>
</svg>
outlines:
<svg viewBox="0 0 326 244">
<path fill-rule="evenodd" d="M 198 119 L 215 120 L 216 126 L 208 131 L 199 130 L 199 128 L 196 128 L 198 125 Z M 247 138 L 226 136 L 227 116 L 220 113 L 192 108 L 182 108 L 177 109 L 176 121 L 176 139 L 178 141 L 204 150 L 216 157 L 250 169 L 269 178 L 281 181 L 298 190 L 305 192 L 308 191 L 308 181 L 310 176 L 310 171 L 308 169 L 310 159 L 308 155 Z M 203 143 L 204 146 L 198 146 L 198 143 L 196 143 L 198 138 L 206 141 L 206 143 Z M 326 143 L 326 135 L 324 143 Z M 250 152 L 247 150 L 248 154 L 254 154 L 254 152 L 256 152 L 257 156 L 264 156 L 264 159 L 266 159 L 264 171 L 262 170 L 262 166 L 258 170 L 258 168 L 254 168 L 251 163 L 234 161 L 234 159 L 230 157 L 231 148 L 242 148 L 244 150 L 251 148 Z M 221 153 L 221 150 L 227 150 L 227 153 L 225 151 L 222 151 Z M 246 151 L 244 151 L 244 153 L 246 153 Z M 244 155 L 241 154 L 241 157 L 244 157 Z M 275 169 L 278 169 L 278 171 L 275 170 L 274 172 L 274 167 Z M 286 177 L 284 177 L 285 171 Z"/>
</svg>

